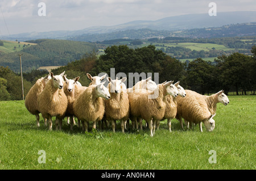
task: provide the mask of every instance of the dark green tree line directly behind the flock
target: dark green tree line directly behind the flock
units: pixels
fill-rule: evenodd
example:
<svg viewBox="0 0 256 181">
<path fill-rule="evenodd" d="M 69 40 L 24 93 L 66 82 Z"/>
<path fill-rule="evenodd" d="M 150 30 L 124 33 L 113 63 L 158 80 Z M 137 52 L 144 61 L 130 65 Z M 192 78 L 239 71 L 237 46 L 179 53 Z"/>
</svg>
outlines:
<svg viewBox="0 0 256 181">
<path fill-rule="evenodd" d="M 231 91 L 237 95 L 255 94 L 256 90 L 256 47 L 251 48 L 253 56 L 233 53 L 222 55 L 213 62 L 197 58 L 193 61 L 180 62 L 168 56 L 154 45 L 131 49 L 127 45 L 112 46 L 105 49 L 105 54 L 97 56 L 95 52 L 82 56 L 80 60 L 69 62 L 66 66 L 52 70 L 60 74 L 65 70 L 68 78 L 80 76 L 83 86 L 88 86 L 90 80 L 86 73 L 95 76 L 99 73 L 108 73 L 115 68 L 115 74 L 125 73 L 154 73 L 159 74 L 159 83 L 164 81 L 180 81 L 184 89 L 190 89 L 200 94 L 210 94 L 224 90 L 226 94 Z M 23 74 L 24 92 L 26 95 L 38 78 L 47 75 L 47 71 L 33 70 Z M 129 77 L 127 77 L 129 81 Z M 134 82 L 134 80 L 133 80 Z M 19 86 L 20 84 L 20 86 Z M 22 99 L 21 79 L 8 67 L 0 66 L 0 99 Z"/>
</svg>

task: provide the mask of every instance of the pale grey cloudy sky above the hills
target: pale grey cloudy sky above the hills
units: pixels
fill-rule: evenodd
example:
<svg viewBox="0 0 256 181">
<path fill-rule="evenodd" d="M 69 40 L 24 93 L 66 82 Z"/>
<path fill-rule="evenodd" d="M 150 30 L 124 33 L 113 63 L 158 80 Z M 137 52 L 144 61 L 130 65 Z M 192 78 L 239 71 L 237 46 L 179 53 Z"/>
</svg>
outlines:
<svg viewBox="0 0 256 181">
<path fill-rule="evenodd" d="M 38 7 L 40 2 L 45 8 Z M 256 10 L 255 0 L 0 0 L 0 36 L 207 14 L 210 2 L 216 3 L 217 13 Z"/>
</svg>

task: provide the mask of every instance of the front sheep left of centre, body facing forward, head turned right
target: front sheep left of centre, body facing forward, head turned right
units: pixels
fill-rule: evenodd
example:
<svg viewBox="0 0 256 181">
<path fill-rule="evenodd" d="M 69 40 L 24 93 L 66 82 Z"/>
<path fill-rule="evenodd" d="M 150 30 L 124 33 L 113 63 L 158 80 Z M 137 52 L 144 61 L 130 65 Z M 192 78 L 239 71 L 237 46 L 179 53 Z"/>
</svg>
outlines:
<svg viewBox="0 0 256 181">
<path fill-rule="evenodd" d="M 82 121 L 82 130 L 85 132 L 88 132 L 89 121 L 93 122 L 93 129 L 96 129 L 97 121 L 104 116 L 105 103 L 102 98 L 110 98 L 109 90 L 104 83 L 89 86 L 73 103 L 75 116 Z"/>
</svg>

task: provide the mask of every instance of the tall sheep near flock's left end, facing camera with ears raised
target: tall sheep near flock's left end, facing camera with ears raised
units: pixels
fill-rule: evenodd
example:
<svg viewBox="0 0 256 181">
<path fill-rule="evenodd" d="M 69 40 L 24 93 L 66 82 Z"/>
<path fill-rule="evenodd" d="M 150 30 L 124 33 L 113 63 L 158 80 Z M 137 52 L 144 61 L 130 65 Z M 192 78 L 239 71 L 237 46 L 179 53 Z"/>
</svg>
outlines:
<svg viewBox="0 0 256 181">
<path fill-rule="evenodd" d="M 53 75 L 50 71 L 51 79 L 46 84 L 46 88 L 38 97 L 39 112 L 48 119 L 48 129 L 52 131 L 52 116 L 56 116 L 56 130 L 61 130 L 62 120 L 68 107 L 68 98 L 63 90 L 63 75 Z"/>
</svg>

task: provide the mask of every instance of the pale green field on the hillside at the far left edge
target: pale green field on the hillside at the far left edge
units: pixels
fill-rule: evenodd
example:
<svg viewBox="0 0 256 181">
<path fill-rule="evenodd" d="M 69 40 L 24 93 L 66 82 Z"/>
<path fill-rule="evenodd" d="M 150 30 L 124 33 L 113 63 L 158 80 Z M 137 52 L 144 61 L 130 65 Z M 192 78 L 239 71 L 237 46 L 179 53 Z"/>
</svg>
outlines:
<svg viewBox="0 0 256 181">
<path fill-rule="evenodd" d="M 27 43 L 27 42 L 18 42 L 18 41 L 8 41 L 8 40 L 1 40 L 3 41 L 3 46 L 0 46 L 1 53 L 11 53 L 11 52 L 19 52 L 23 50 L 23 45 L 36 45 L 35 43 Z M 28 46 L 29 46 L 28 45 Z M 14 48 L 16 47 L 16 48 Z"/>
</svg>

